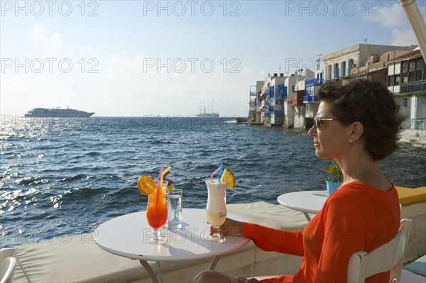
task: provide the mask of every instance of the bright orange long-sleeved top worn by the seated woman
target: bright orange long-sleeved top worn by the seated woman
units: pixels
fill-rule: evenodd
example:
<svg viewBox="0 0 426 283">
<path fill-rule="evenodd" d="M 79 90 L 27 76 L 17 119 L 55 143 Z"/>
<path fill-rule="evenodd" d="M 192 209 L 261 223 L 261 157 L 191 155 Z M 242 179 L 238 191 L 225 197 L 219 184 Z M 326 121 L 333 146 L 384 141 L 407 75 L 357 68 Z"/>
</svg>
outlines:
<svg viewBox="0 0 426 283">
<path fill-rule="evenodd" d="M 283 231 L 243 223 L 244 236 L 262 250 L 304 256 L 300 270 L 263 282 L 346 282 L 349 257 L 370 252 L 398 232 L 400 208 L 395 187 L 383 192 L 361 182 L 344 184 L 325 201 L 304 230 Z M 366 282 L 389 282 L 389 272 Z"/>
</svg>

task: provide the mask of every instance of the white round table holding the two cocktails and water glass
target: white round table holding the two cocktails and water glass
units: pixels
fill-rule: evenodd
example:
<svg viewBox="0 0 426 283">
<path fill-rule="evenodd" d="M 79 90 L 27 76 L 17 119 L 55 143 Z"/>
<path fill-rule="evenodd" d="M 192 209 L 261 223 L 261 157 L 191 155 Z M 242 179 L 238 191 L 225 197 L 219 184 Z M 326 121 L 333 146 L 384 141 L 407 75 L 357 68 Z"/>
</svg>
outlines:
<svg viewBox="0 0 426 283">
<path fill-rule="evenodd" d="M 238 221 L 243 219 L 228 213 L 227 217 Z M 209 269 L 213 270 L 220 255 L 231 253 L 250 242 L 249 238 L 226 236 L 226 243 L 211 243 L 207 240 L 210 226 L 207 224 L 205 209 L 183 209 L 182 231 L 172 232 L 161 229 L 167 236 L 163 245 L 148 243 L 153 235 L 146 220 L 146 211 L 129 213 L 102 223 L 94 231 L 94 240 L 99 247 L 114 255 L 139 260 L 150 274 L 153 282 L 163 282 L 161 261 L 195 260 L 214 257 Z M 147 260 L 157 263 L 158 278 Z"/>
</svg>

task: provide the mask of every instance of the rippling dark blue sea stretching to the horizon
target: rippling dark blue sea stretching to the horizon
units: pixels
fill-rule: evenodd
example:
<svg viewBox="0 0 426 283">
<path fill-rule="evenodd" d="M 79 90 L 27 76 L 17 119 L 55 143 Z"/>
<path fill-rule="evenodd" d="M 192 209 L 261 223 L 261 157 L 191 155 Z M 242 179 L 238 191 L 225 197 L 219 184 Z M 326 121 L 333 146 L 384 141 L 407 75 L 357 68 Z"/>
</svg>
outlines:
<svg viewBox="0 0 426 283">
<path fill-rule="evenodd" d="M 278 204 L 287 192 L 325 189 L 330 160 L 315 156 L 307 130 L 266 128 L 188 116 L 135 118 L 2 117 L 0 246 L 70 239 L 104 221 L 146 209 L 137 187 L 160 165 L 183 190 L 184 208 L 204 208 L 204 180 L 231 170 L 228 204 Z M 394 184 L 426 185 L 426 148 L 400 144 L 379 162 Z"/>
</svg>

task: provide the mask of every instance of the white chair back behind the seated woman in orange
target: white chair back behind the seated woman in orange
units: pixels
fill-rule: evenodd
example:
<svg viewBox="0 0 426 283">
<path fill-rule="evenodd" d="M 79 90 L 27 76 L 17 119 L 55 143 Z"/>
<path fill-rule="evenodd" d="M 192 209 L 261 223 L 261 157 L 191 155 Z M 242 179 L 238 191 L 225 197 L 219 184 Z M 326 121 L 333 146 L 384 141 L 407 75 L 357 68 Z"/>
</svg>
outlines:
<svg viewBox="0 0 426 283">
<path fill-rule="evenodd" d="M 359 251 L 351 255 L 348 264 L 348 282 L 364 283 L 367 277 L 390 270 L 389 282 L 399 283 L 410 226 L 410 219 L 402 219 L 398 233 L 388 243 L 370 253 Z"/>
</svg>

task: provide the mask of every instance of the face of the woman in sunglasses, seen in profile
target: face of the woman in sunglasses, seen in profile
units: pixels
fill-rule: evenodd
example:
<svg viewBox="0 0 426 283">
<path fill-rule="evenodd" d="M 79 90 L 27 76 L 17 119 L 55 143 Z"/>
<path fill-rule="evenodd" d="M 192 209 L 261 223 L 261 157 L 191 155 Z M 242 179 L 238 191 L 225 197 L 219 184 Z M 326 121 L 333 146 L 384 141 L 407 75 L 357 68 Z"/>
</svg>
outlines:
<svg viewBox="0 0 426 283">
<path fill-rule="evenodd" d="M 321 101 L 317 116 L 334 118 L 329 102 Z M 320 158 L 340 159 L 349 145 L 349 132 L 340 121 L 321 121 L 320 127 L 312 126 L 309 135 L 314 137 L 315 155 Z"/>
</svg>

